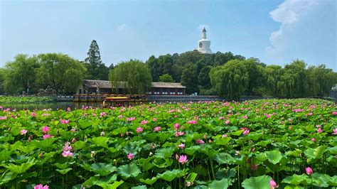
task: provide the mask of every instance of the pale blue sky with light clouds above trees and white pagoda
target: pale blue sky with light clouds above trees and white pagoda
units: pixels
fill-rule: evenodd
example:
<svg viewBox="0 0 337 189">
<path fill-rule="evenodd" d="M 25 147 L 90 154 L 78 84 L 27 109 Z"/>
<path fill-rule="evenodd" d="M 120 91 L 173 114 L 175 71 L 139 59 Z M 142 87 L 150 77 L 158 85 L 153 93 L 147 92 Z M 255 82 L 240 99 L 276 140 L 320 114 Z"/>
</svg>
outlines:
<svg viewBox="0 0 337 189">
<path fill-rule="evenodd" d="M 105 65 L 198 46 L 203 27 L 213 53 L 267 65 L 304 60 L 337 71 L 334 0 L 0 0 L 0 67 L 18 53 L 87 57 L 100 46 Z"/>
</svg>

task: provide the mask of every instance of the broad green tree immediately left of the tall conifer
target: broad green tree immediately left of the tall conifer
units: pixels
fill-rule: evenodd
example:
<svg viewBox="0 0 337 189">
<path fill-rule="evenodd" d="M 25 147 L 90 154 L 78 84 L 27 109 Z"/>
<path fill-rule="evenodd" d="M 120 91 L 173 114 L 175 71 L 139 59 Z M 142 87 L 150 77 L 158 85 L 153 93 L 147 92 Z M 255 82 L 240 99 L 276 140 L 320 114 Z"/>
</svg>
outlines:
<svg viewBox="0 0 337 189">
<path fill-rule="evenodd" d="M 38 68 L 38 83 L 43 88 L 48 86 L 56 94 L 76 92 L 82 83 L 85 67 L 68 55 L 46 53 L 38 55 L 41 68 Z"/>
</svg>

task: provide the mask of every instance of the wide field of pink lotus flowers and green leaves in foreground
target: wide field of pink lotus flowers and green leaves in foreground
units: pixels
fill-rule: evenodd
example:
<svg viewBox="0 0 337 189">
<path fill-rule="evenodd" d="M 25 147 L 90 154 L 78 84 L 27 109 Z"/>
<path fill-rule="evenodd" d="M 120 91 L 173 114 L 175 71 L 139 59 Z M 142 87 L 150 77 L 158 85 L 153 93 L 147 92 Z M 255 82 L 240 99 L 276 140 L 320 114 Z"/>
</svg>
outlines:
<svg viewBox="0 0 337 189">
<path fill-rule="evenodd" d="M 317 99 L 0 111 L 0 188 L 333 188 Z"/>
</svg>

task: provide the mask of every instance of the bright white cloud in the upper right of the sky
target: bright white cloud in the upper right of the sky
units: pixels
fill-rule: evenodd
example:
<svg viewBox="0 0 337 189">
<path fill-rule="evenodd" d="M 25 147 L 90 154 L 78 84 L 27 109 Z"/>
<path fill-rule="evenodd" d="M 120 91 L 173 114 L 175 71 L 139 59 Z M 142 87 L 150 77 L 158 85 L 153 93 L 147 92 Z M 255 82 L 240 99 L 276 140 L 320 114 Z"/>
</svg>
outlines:
<svg viewBox="0 0 337 189">
<path fill-rule="evenodd" d="M 316 4 L 318 4 L 317 0 L 285 0 L 277 9 L 269 13 L 274 21 L 281 23 L 281 26 L 278 31 L 272 32 L 269 37 L 271 45 L 265 48 L 267 57 L 277 58 L 282 53 L 286 48 L 284 46 L 284 39 L 287 38 L 285 31 L 291 30 L 291 26 L 300 21 L 301 16 Z"/>
</svg>

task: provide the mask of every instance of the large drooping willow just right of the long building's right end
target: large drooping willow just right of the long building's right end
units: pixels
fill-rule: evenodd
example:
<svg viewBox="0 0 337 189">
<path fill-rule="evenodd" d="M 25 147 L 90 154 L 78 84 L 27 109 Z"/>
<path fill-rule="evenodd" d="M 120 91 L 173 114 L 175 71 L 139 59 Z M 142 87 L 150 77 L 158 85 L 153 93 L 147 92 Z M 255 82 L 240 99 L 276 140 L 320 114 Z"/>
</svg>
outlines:
<svg viewBox="0 0 337 189">
<path fill-rule="evenodd" d="M 230 60 L 210 70 L 210 82 L 218 95 L 239 100 L 247 90 L 249 75 L 245 60 Z"/>
</svg>

